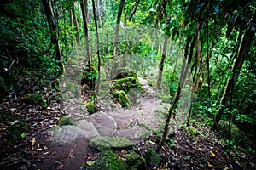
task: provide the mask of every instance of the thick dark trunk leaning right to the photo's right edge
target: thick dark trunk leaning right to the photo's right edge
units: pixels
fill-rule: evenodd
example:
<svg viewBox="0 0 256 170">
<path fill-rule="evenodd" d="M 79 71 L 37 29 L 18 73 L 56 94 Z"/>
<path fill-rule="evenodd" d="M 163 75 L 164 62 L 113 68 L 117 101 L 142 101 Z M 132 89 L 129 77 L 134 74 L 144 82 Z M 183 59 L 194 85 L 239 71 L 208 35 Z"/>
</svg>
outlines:
<svg viewBox="0 0 256 170">
<path fill-rule="evenodd" d="M 238 54 L 236 56 L 236 60 L 235 60 L 235 62 L 233 64 L 233 67 L 232 67 L 232 75 L 230 75 L 230 77 L 228 78 L 228 82 L 226 84 L 224 94 L 223 94 L 222 99 L 220 101 L 218 112 L 215 116 L 215 120 L 214 120 L 214 123 L 212 125 L 212 130 L 215 130 L 215 129 L 218 128 L 218 122 L 221 119 L 221 116 L 222 116 L 223 111 L 224 111 L 224 107 L 228 103 L 228 99 L 230 97 L 230 92 L 231 92 L 232 85 L 236 84 L 237 80 L 235 79 L 235 77 L 239 76 L 240 71 L 241 71 L 241 67 L 242 67 L 245 59 L 247 59 L 247 54 L 249 53 L 249 50 L 252 46 L 253 38 L 255 36 L 255 28 L 253 28 L 253 26 L 251 26 L 251 24 L 252 24 L 252 20 L 256 20 L 255 10 L 256 9 L 254 9 L 254 11 L 253 11 L 253 17 L 250 21 L 250 24 L 247 27 L 247 30 L 245 31 L 244 36 L 242 37 L 241 44 L 240 44 L 240 47 L 238 49 Z"/>
</svg>

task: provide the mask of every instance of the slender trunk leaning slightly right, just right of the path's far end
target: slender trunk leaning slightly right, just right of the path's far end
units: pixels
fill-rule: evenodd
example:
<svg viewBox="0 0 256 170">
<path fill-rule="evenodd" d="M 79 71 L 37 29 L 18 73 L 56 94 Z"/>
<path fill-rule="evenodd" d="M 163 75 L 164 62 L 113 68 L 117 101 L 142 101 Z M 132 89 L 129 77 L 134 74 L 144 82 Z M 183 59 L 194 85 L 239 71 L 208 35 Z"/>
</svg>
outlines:
<svg viewBox="0 0 256 170">
<path fill-rule="evenodd" d="M 159 65 L 158 79 L 157 79 L 157 88 L 158 89 L 161 88 L 162 75 L 163 75 L 163 70 L 164 70 L 164 65 L 165 65 L 165 60 L 166 60 L 167 43 L 168 43 L 168 37 L 165 37 L 164 47 L 163 47 L 163 51 L 162 51 L 162 57 L 160 60 L 160 65 Z"/>
</svg>

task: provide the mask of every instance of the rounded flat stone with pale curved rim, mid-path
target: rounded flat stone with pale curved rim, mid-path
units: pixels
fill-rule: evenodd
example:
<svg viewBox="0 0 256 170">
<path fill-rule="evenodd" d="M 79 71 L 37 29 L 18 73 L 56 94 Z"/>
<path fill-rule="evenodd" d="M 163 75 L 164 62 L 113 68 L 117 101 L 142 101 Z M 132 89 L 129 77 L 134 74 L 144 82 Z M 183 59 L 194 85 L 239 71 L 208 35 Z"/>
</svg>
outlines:
<svg viewBox="0 0 256 170">
<path fill-rule="evenodd" d="M 113 136 L 117 131 L 117 123 L 112 116 L 105 112 L 96 112 L 88 118 L 96 127 L 97 132 L 102 136 Z"/>
</svg>

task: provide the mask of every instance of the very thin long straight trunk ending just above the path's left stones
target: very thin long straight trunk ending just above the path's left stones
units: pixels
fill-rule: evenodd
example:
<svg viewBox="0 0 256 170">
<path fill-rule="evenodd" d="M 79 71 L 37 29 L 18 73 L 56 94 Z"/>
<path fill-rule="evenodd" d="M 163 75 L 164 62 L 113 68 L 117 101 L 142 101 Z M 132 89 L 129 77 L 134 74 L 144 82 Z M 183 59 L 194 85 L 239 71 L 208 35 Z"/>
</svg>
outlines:
<svg viewBox="0 0 256 170">
<path fill-rule="evenodd" d="M 100 88 L 100 82 L 101 82 L 101 56 L 100 56 L 100 40 L 99 40 L 99 32 L 98 32 L 98 26 L 97 26 L 97 20 L 96 20 L 96 8 L 95 8 L 95 2 L 92 0 L 92 8 L 93 8 L 93 18 L 95 22 L 95 28 L 96 28 L 96 40 L 97 40 L 97 56 L 98 56 L 98 80 L 97 80 L 97 86 L 96 86 L 96 94 L 99 93 Z"/>
</svg>

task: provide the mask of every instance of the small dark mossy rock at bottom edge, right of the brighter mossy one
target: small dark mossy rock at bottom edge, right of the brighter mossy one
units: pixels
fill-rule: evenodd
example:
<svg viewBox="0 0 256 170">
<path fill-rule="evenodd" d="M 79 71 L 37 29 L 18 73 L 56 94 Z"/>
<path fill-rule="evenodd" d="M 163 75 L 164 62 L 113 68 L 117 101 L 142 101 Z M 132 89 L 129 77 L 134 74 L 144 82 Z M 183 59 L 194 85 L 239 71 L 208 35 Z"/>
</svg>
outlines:
<svg viewBox="0 0 256 170">
<path fill-rule="evenodd" d="M 125 154 L 122 156 L 127 163 L 129 170 L 146 170 L 146 161 L 137 154 Z"/>
</svg>

